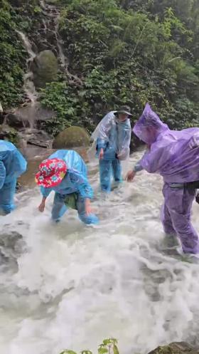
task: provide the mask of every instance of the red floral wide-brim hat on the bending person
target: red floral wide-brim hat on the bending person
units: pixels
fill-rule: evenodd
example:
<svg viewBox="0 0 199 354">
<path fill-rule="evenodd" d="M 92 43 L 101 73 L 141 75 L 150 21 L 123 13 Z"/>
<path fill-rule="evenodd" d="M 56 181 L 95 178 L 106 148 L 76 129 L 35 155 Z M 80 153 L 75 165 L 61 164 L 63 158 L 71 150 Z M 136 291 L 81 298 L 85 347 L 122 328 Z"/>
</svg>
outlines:
<svg viewBox="0 0 199 354">
<path fill-rule="evenodd" d="M 44 160 L 39 165 L 39 171 L 36 174 L 36 183 L 45 188 L 55 187 L 62 182 L 67 172 L 65 161 L 60 159 Z"/>
</svg>

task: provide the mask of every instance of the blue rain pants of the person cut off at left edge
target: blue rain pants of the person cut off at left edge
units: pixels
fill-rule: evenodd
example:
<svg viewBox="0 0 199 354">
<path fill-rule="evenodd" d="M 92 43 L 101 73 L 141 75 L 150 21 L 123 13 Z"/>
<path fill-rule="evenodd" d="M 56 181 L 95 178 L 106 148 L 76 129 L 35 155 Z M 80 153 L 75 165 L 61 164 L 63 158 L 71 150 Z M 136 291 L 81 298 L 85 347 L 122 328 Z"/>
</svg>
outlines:
<svg viewBox="0 0 199 354">
<path fill-rule="evenodd" d="M 15 209 L 14 194 L 16 192 L 16 178 L 11 179 L 10 182 L 5 182 L 0 189 L 0 209 L 5 214 L 9 214 Z"/>
</svg>

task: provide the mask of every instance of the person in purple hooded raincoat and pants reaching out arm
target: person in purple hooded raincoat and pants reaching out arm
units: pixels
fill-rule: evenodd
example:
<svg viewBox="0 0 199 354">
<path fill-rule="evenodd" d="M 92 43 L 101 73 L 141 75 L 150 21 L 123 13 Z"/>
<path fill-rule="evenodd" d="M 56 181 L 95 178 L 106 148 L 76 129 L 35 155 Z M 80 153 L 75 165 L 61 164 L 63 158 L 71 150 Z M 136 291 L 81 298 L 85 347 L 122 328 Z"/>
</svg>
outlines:
<svg viewBox="0 0 199 354">
<path fill-rule="evenodd" d="M 163 229 L 180 238 L 181 252 L 199 254 L 198 234 L 190 222 L 199 181 L 199 128 L 170 130 L 147 103 L 133 131 L 148 150 L 128 172 L 127 181 L 141 170 L 163 177 Z"/>
</svg>

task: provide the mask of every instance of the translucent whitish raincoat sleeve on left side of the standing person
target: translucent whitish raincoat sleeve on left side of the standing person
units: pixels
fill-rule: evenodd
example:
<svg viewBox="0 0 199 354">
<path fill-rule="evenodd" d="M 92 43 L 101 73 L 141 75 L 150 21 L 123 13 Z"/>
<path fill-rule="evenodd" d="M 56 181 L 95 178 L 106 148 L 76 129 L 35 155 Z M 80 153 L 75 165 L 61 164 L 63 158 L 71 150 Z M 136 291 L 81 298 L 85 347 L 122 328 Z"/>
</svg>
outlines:
<svg viewBox="0 0 199 354">
<path fill-rule="evenodd" d="M 97 147 L 99 149 L 105 149 L 107 142 L 109 142 L 109 132 L 112 128 L 113 118 L 114 118 L 114 113 L 109 112 L 99 123 L 99 130 L 98 130 L 98 137 L 97 137 Z"/>
</svg>

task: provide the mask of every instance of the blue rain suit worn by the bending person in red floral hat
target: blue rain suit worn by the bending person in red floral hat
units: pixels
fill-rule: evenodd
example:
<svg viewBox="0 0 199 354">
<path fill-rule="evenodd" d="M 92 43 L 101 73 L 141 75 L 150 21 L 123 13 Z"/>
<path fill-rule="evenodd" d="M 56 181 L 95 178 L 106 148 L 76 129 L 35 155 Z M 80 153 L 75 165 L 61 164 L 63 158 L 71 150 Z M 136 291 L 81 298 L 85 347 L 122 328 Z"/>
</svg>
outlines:
<svg viewBox="0 0 199 354">
<path fill-rule="evenodd" d="M 62 182 L 53 188 L 41 187 L 43 197 L 48 197 L 50 192 L 55 191 L 52 209 L 52 219 L 58 221 L 67 211 L 65 203 L 68 194 L 75 193 L 76 208 L 80 220 L 85 224 L 97 224 L 99 222 L 95 214 L 86 214 L 85 199 L 92 199 L 93 191 L 87 179 L 87 167 L 77 152 L 73 150 L 58 150 L 49 159 L 57 158 L 65 161 L 67 172 Z"/>
</svg>

